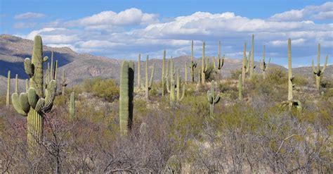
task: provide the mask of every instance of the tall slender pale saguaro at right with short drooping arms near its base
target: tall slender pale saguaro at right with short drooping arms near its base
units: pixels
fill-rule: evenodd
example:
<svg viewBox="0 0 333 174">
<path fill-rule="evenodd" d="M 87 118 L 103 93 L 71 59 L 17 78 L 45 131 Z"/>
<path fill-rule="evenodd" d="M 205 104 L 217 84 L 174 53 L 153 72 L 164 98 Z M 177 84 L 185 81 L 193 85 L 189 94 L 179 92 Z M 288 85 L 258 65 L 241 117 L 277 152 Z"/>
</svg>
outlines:
<svg viewBox="0 0 333 174">
<path fill-rule="evenodd" d="M 282 106 L 289 106 L 289 109 L 296 107 L 301 110 L 301 101 L 294 100 L 292 96 L 292 89 L 294 88 L 294 76 L 292 75 L 292 40 L 288 39 L 288 101 L 283 101 Z"/>
</svg>

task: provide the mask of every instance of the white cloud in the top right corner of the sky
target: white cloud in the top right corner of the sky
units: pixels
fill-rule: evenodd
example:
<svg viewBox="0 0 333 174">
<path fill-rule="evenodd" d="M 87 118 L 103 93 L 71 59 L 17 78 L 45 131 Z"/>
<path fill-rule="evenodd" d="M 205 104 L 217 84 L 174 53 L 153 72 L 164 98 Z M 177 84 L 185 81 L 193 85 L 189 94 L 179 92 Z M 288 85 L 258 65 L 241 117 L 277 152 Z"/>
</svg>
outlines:
<svg viewBox="0 0 333 174">
<path fill-rule="evenodd" d="M 306 6 L 301 10 L 291 10 L 272 15 L 273 21 L 296 21 L 304 19 L 325 20 L 333 17 L 333 2 L 327 2 L 320 6 Z"/>
</svg>

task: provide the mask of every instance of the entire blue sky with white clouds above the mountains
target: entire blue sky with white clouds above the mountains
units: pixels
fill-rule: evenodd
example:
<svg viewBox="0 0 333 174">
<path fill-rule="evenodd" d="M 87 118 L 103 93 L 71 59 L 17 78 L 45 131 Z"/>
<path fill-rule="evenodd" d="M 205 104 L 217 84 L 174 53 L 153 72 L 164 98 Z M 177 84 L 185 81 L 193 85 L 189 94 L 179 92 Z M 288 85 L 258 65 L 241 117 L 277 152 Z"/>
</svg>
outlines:
<svg viewBox="0 0 333 174">
<path fill-rule="evenodd" d="M 41 35 L 48 46 L 68 46 L 80 53 L 136 59 L 195 56 L 207 42 L 216 56 L 217 43 L 228 58 L 241 58 L 242 46 L 254 56 L 287 64 L 287 39 L 292 38 L 293 66 L 309 66 L 321 44 L 322 63 L 333 63 L 332 1 L 0 1 L 0 33 L 32 39 Z"/>
</svg>

